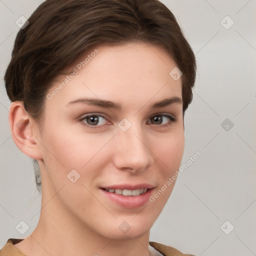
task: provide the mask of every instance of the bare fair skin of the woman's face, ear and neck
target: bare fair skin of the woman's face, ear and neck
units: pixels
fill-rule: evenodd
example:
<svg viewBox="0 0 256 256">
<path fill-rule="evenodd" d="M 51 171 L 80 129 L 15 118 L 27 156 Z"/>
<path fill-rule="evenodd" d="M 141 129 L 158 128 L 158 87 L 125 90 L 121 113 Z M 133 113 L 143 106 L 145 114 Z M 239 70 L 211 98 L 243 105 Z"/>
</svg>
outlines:
<svg viewBox="0 0 256 256">
<path fill-rule="evenodd" d="M 174 182 L 154 202 L 128 209 L 110 201 L 100 187 L 120 183 L 150 183 L 152 194 L 178 169 L 184 149 L 182 104 L 149 109 L 166 97 L 182 98 L 181 78 L 169 72 L 176 63 L 167 52 L 145 43 L 100 46 L 99 52 L 52 99 L 45 98 L 42 132 L 20 101 L 12 102 L 9 124 L 17 147 L 37 159 L 42 203 L 34 231 L 15 246 L 28 256 L 98 254 L 159 255 L 148 245 L 149 230 L 165 205 Z M 86 54 L 87 55 L 87 54 Z M 85 56 L 80 56 L 84 59 Z M 70 69 L 75 67 L 75 63 Z M 49 93 L 63 80 L 57 77 Z M 84 103 L 78 97 L 120 102 L 122 110 Z M 89 128 L 78 120 L 85 114 L 105 117 Z M 150 117 L 165 113 L 154 122 Z M 126 118 L 131 127 L 118 123 Z M 88 119 L 87 119 L 88 124 Z M 91 125 L 92 126 L 92 125 Z M 67 174 L 80 178 L 72 183 Z M 126 221 L 130 230 L 118 226 Z"/>
</svg>

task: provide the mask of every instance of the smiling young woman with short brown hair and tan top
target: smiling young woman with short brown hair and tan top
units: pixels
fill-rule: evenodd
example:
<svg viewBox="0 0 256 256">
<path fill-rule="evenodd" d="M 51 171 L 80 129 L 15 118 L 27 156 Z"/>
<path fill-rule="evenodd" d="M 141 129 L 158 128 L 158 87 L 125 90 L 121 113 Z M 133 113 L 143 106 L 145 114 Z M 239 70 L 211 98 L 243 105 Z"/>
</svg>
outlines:
<svg viewBox="0 0 256 256">
<path fill-rule="evenodd" d="M 42 207 L 0 256 L 184 255 L 149 230 L 182 159 L 195 68 L 157 0 L 44 1 L 4 76 L 12 138 L 38 163 Z"/>
</svg>

